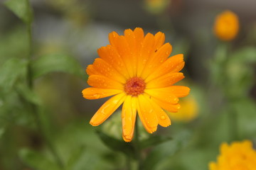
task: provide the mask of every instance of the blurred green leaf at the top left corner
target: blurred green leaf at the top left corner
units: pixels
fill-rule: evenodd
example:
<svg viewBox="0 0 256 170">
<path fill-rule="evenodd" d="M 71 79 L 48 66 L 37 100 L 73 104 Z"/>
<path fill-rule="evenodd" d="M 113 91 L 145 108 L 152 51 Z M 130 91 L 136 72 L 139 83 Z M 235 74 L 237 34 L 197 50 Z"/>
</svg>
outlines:
<svg viewBox="0 0 256 170">
<path fill-rule="evenodd" d="M 8 0 L 4 4 L 21 20 L 30 24 L 33 20 L 32 9 L 29 0 Z"/>
</svg>

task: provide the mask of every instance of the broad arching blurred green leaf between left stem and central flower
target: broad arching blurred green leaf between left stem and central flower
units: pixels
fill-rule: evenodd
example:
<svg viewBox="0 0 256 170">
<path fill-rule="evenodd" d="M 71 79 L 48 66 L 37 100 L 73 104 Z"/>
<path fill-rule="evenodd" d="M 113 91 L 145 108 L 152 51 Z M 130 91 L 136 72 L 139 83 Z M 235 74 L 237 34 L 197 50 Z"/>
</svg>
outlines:
<svg viewBox="0 0 256 170">
<path fill-rule="evenodd" d="M 31 63 L 33 79 L 50 72 L 65 72 L 75 74 L 85 79 L 86 74 L 75 58 L 65 54 L 43 55 Z"/>
</svg>

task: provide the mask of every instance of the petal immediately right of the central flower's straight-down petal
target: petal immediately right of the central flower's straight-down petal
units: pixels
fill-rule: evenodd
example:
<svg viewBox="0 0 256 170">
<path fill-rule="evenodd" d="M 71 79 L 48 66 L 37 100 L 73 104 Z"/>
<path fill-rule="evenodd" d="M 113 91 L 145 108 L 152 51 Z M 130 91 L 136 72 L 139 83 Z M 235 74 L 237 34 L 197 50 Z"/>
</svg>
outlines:
<svg viewBox="0 0 256 170">
<path fill-rule="evenodd" d="M 137 110 L 140 120 L 147 132 L 155 132 L 158 125 L 158 119 L 153 106 L 148 102 L 146 96 L 139 95 L 137 100 Z"/>
</svg>

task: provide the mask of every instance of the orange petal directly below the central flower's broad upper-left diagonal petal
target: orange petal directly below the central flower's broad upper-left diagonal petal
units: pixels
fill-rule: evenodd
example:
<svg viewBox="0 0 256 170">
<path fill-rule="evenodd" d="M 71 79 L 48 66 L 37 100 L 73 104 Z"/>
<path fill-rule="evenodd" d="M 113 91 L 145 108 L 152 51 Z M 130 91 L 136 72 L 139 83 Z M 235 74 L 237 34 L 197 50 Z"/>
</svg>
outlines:
<svg viewBox="0 0 256 170">
<path fill-rule="evenodd" d="M 119 74 L 119 72 L 117 72 L 114 67 L 112 67 L 112 65 L 108 64 L 101 58 L 95 59 L 95 62 L 93 62 L 92 65 L 95 70 L 97 70 L 97 72 L 99 72 L 103 76 L 118 81 L 122 84 L 126 82 L 126 79 L 122 76 L 122 74 Z"/>
</svg>

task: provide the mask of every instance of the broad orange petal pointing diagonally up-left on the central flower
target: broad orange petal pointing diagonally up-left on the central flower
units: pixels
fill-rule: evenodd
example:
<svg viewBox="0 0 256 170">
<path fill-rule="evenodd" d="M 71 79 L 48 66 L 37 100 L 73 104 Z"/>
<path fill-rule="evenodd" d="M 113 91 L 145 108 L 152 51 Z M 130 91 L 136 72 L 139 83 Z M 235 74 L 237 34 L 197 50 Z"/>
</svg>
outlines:
<svg viewBox="0 0 256 170">
<path fill-rule="evenodd" d="M 107 45 L 107 47 L 100 47 L 97 50 L 97 53 L 100 58 L 102 58 L 102 60 L 105 60 L 105 62 L 112 65 L 112 67 L 114 67 L 114 69 L 116 69 L 119 74 L 124 75 L 124 77 L 126 78 L 129 77 L 127 68 L 124 65 L 124 61 L 118 54 L 115 47 L 113 47 L 112 45 Z"/>
</svg>

